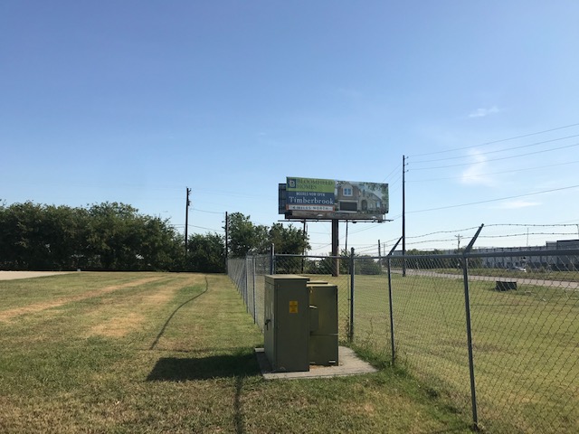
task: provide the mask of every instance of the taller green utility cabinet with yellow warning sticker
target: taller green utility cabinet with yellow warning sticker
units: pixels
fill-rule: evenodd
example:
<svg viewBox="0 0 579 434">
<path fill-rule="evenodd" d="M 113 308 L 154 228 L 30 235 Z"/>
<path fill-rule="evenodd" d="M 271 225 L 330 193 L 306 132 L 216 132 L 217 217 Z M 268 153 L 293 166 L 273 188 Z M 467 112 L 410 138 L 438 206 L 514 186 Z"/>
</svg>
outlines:
<svg viewBox="0 0 579 434">
<path fill-rule="evenodd" d="M 264 351 L 275 372 L 309 371 L 308 278 L 265 276 Z"/>
</svg>

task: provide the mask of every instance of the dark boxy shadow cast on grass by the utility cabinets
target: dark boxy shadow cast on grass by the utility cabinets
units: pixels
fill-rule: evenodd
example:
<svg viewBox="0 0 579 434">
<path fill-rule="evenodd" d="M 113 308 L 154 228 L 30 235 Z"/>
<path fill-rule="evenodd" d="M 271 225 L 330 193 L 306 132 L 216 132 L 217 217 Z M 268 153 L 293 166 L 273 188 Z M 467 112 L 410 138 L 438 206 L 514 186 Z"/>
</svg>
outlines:
<svg viewBox="0 0 579 434">
<path fill-rule="evenodd" d="M 255 354 L 212 355 L 201 358 L 164 357 L 158 360 L 148 374 L 148 382 L 183 382 L 186 380 L 208 380 L 231 378 L 260 373 Z"/>
</svg>

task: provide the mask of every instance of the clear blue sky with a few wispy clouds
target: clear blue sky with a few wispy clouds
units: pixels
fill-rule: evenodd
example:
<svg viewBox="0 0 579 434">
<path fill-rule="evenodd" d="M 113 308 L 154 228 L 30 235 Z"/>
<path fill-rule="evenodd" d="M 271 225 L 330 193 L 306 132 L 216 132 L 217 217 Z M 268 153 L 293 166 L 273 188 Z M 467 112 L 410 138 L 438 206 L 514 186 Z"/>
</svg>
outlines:
<svg viewBox="0 0 579 434">
<path fill-rule="evenodd" d="M 271 225 L 286 176 L 390 184 L 348 248 L 579 232 L 579 3 L 0 3 L 0 200 Z M 515 138 L 518 137 L 518 138 Z M 300 224 L 299 224 L 300 226 Z M 308 223 L 312 253 L 330 225 Z M 346 244 L 340 224 L 340 246 Z M 466 240 L 466 241 L 465 241 Z"/>
</svg>

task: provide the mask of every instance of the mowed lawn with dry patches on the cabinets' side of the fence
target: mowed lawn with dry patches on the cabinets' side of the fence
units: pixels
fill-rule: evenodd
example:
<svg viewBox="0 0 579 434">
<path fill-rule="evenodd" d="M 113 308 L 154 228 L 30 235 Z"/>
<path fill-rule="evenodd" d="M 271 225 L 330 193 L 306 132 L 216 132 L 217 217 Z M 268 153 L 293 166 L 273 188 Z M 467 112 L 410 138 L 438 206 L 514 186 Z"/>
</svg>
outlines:
<svg viewBox="0 0 579 434">
<path fill-rule="evenodd" d="M 470 432 L 410 376 L 266 382 L 223 275 L 0 281 L 0 432 Z"/>
</svg>

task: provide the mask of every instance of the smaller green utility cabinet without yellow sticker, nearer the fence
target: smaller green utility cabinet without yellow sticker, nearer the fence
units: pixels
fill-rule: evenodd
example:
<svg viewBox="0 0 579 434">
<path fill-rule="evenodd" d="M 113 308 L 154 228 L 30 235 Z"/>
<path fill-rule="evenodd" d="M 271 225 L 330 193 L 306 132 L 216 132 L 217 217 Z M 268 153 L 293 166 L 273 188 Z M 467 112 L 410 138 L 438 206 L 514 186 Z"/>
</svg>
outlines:
<svg viewBox="0 0 579 434">
<path fill-rule="evenodd" d="M 309 282 L 309 304 L 316 307 L 317 324 L 310 327 L 309 363 L 337 365 L 337 286 Z"/>
</svg>

